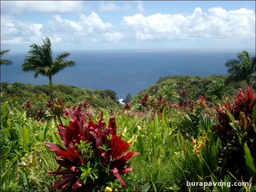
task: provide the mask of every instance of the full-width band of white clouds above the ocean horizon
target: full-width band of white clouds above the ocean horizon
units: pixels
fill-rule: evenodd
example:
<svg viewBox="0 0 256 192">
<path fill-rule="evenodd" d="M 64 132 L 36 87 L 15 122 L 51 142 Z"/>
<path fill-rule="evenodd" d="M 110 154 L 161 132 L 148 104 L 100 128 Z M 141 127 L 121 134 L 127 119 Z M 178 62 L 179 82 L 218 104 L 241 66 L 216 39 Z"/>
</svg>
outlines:
<svg viewBox="0 0 256 192">
<path fill-rule="evenodd" d="M 199 7 L 190 15 L 136 14 L 125 16 L 119 28 L 103 22 L 99 15 L 80 14 L 76 21 L 53 15 L 47 25 L 1 18 L 1 44 L 41 44 L 48 36 L 52 43 L 184 41 L 255 43 L 255 13 L 245 8 L 226 11 L 213 7 L 203 12 Z"/>
</svg>

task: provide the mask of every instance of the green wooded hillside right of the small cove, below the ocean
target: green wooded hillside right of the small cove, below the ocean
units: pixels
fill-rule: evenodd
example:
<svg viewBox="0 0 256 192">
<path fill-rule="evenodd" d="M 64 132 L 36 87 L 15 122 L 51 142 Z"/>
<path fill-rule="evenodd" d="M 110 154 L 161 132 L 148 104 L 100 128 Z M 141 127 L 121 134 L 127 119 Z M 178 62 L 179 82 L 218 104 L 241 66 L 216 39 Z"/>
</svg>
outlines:
<svg viewBox="0 0 256 192">
<path fill-rule="evenodd" d="M 220 84 L 223 85 L 224 88 L 230 88 L 230 92 L 228 95 L 234 95 L 237 93 L 239 88 L 244 88 L 246 84 L 245 81 L 241 81 L 239 83 L 232 83 L 230 85 L 224 85 L 224 79 L 226 78 L 225 75 L 211 75 L 209 77 L 202 78 L 200 76 L 191 77 L 189 75 L 186 76 L 165 76 L 160 78 L 154 85 L 147 87 L 146 89 L 142 90 L 138 93 L 136 97 L 142 97 L 143 95 L 162 95 L 168 97 L 166 95 L 167 91 L 173 92 L 173 96 L 169 98 L 169 100 L 173 103 L 178 103 L 180 101 L 180 96 L 182 91 L 186 91 L 186 98 L 191 100 L 196 100 L 200 96 L 205 95 L 208 101 L 215 101 L 213 96 L 207 92 L 209 85 L 213 85 L 214 81 L 220 81 Z M 253 88 L 255 89 L 255 87 Z M 183 98 L 184 99 L 184 98 Z M 134 100 L 132 101 L 132 103 Z"/>
</svg>

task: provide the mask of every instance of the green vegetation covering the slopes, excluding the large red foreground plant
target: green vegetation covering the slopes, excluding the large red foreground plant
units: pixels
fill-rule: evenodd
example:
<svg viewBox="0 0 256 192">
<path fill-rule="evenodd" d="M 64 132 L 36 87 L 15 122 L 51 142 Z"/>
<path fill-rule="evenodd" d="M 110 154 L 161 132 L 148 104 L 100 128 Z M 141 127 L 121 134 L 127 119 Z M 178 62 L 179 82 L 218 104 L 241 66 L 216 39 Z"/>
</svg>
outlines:
<svg viewBox="0 0 256 192">
<path fill-rule="evenodd" d="M 72 105 L 78 104 L 89 115 L 86 120 L 91 121 L 90 129 L 94 127 L 92 122 L 99 122 L 102 117 L 101 124 L 109 126 L 108 119 L 115 115 L 117 134 L 125 142 L 131 142 L 133 152 L 139 152 L 127 165 L 133 171 L 123 177 L 127 184 L 125 188 L 120 188 L 120 182 L 115 180 L 104 181 L 99 190 L 255 191 L 255 94 L 246 87 L 246 91 L 240 90 L 233 100 L 228 98 L 224 102 L 222 97 L 216 98 L 214 104 L 219 107 L 211 107 L 208 101 L 213 101 L 213 95 L 207 92 L 206 86 L 210 89 L 219 83 L 220 90 L 224 90 L 228 88 L 222 85 L 224 78 L 216 75 L 160 78 L 143 92 L 154 94 L 142 95 L 141 92 L 134 97 L 133 105 L 124 111 L 121 107 L 116 108 L 118 104 L 113 91 L 54 84 L 55 95 L 66 101 L 61 102 L 58 98 L 54 104 L 56 110 L 54 107 L 48 109 L 47 114 L 52 119 L 46 115 L 39 119 L 34 116 L 34 111 L 41 113 L 37 111 L 39 106 L 47 109 L 47 85 L 17 82 L 8 84 L 7 91 L 1 86 L 1 191 L 52 190 L 53 177 L 47 171 L 56 170 L 58 165 L 42 142 L 54 142 L 64 147 L 61 137 L 56 134 L 57 122 L 69 126 L 71 118 L 63 115 L 64 109 L 75 110 L 77 106 Z M 170 85 L 179 95 L 176 100 L 179 104 L 157 95 L 162 87 Z M 230 86 L 234 88 L 230 92 L 233 94 L 241 84 Z M 206 97 L 201 97 L 201 93 Z M 99 112 L 98 107 L 101 107 Z M 29 118 L 29 114 L 34 118 Z M 80 143 L 76 147 L 82 154 L 92 157 L 94 150 L 91 146 Z M 109 150 L 106 145 L 99 149 Z M 96 178 L 101 177 L 97 164 L 100 161 L 92 162 L 79 166 L 82 181 L 99 181 Z M 252 186 L 196 187 L 187 186 L 186 181 L 231 184 L 248 181 Z"/>
</svg>

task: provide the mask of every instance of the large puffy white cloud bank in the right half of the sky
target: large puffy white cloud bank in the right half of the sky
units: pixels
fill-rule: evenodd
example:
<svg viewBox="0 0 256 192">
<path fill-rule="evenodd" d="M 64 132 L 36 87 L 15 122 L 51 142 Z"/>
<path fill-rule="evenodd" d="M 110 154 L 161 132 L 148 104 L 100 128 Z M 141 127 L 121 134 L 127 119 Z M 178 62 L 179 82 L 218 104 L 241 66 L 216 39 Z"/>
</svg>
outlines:
<svg viewBox="0 0 256 192">
<path fill-rule="evenodd" d="M 181 40 L 197 38 L 252 38 L 255 41 L 255 13 L 245 8 L 226 11 L 213 7 L 202 12 L 197 7 L 191 15 L 155 14 L 148 17 L 142 14 L 125 16 L 122 26 L 131 37 L 140 40 Z M 147 29 L 145 31 L 144 29 Z"/>
</svg>

